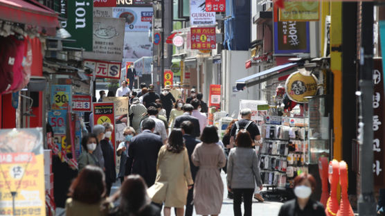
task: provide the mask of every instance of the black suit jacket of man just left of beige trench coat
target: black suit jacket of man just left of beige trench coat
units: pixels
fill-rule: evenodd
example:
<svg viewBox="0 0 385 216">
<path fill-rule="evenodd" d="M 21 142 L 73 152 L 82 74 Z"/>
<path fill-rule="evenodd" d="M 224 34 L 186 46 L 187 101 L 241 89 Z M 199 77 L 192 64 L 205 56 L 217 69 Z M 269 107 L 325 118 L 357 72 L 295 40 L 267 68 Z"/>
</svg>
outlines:
<svg viewBox="0 0 385 216">
<path fill-rule="evenodd" d="M 140 174 L 150 188 L 156 177 L 156 162 L 163 143 L 161 136 L 145 129 L 129 143 L 128 156 L 133 160 L 132 174 Z"/>
</svg>

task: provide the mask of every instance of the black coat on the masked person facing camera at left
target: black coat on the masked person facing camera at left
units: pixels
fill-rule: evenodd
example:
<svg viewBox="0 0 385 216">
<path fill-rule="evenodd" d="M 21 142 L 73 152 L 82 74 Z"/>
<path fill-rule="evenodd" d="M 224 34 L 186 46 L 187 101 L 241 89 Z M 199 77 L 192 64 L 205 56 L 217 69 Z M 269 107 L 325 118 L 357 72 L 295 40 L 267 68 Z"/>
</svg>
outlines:
<svg viewBox="0 0 385 216">
<path fill-rule="evenodd" d="M 100 147 L 102 147 L 103 158 L 105 159 L 106 183 L 114 183 L 116 181 L 114 147 L 112 147 L 108 138 L 100 141 Z"/>
</svg>

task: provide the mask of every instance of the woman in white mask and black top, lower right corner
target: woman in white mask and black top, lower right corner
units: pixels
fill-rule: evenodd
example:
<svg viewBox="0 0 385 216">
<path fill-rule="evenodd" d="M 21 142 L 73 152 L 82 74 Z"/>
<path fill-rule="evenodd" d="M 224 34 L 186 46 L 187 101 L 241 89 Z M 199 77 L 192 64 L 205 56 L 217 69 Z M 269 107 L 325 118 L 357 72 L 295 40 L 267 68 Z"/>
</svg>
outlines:
<svg viewBox="0 0 385 216">
<path fill-rule="evenodd" d="M 325 216 L 325 208 L 319 201 L 310 198 L 316 189 L 316 179 L 311 174 L 300 174 L 294 179 L 296 199 L 287 201 L 280 207 L 278 216 Z"/>
</svg>

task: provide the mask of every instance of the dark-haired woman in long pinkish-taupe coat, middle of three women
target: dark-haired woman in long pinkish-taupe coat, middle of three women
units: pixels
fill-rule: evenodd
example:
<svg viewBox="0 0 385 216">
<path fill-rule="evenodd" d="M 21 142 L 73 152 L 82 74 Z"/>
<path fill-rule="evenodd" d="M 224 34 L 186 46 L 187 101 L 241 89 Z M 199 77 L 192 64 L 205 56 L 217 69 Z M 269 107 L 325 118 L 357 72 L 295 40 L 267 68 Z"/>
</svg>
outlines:
<svg viewBox="0 0 385 216">
<path fill-rule="evenodd" d="M 198 215 L 219 215 L 223 200 L 223 182 L 220 168 L 226 165 L 222 147 L 215 144 L 219 141 L 217 128 L 206 126 L 201 141 L 192 155 L 194 165 L 199 167 L 194 186 L 194 206 Z"/>
</svg>

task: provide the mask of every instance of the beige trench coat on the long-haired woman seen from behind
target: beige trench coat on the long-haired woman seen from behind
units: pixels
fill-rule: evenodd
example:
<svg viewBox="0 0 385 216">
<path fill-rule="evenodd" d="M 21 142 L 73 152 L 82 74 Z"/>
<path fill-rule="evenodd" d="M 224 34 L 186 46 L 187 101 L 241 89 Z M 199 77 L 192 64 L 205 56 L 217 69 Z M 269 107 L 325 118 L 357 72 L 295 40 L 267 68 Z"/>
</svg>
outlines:
<svg viewBox="0 0 385 216">
<path fill-rule="evenodd" d="M 155 182 L 167 182 L 165 207 L 183 208 L 186 205 L 188 185 L 194 183 L 186 147 L 179 153 L 172 153 L 163 145 L 159 150 Z"/>
</svg>

